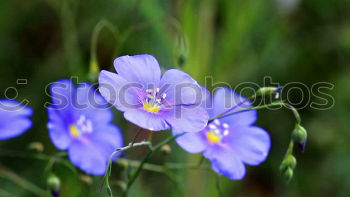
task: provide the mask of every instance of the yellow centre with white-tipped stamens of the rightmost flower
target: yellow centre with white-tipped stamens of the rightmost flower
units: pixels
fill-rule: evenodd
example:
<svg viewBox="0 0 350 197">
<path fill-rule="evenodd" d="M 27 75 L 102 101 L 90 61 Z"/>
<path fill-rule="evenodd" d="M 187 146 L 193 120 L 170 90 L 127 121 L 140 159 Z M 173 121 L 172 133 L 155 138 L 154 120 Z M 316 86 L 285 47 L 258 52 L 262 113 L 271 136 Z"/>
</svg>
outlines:
<svg viewBox="0 0 350 197">
<path fill-rule="evenodd" d="M 207 140 L 212 144 L 219 144 L 222 139 L 229 134 L 229 125 L 222 123 L 215 119 L 212 123 L 208 124 L 205 136 Z"/>
</svg>

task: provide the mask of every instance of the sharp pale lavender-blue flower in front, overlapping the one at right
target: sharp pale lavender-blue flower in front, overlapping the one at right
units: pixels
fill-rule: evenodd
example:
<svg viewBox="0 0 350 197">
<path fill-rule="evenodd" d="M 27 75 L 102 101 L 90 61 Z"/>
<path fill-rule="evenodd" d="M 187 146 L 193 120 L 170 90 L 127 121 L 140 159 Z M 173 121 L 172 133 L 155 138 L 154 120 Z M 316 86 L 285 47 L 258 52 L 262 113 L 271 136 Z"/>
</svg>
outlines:
<svg viewBox="0 0 350 197">
<path fill-rule="evenodd" d="M 208 114 L 199 106 L 202 88 L 185 72 L 170 69 L 161 75 L 151 55 L 122 56 L 114 67 L 118 74 L 100 73 L 99 90 L 128 121 L 152 131 L 196 132 L 206 126 Z"/>
</svg>

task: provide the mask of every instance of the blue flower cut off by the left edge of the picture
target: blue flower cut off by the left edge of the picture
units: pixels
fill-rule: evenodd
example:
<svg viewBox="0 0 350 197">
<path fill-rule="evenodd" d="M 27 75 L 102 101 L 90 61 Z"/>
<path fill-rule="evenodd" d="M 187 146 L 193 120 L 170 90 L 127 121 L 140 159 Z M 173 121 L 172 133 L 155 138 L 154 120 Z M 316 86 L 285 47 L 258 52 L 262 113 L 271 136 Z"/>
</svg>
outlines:
<svg viewBox="0 0 350 197">
<path fill-rule="evenodd" d="M 0 140 L 17 137 L 32 127 L 32 109 L 13 100 L 0 100 Z"/>
</svg>

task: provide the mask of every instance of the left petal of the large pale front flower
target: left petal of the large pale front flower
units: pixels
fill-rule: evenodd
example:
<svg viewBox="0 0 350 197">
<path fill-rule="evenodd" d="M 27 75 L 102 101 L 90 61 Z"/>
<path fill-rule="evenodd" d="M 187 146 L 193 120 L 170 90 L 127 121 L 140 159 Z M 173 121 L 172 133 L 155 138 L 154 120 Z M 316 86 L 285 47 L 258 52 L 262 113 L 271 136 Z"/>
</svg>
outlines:
<svg viewBox="0 0 350 197">
<path fill-rule="evenodd" d="M 139 84 L 130 83 L 120 75 L 101 71 L 99 76 L 99 91 L 101 95 L 120 111 L 139 107 L 137 89 Z"/>
</svg>

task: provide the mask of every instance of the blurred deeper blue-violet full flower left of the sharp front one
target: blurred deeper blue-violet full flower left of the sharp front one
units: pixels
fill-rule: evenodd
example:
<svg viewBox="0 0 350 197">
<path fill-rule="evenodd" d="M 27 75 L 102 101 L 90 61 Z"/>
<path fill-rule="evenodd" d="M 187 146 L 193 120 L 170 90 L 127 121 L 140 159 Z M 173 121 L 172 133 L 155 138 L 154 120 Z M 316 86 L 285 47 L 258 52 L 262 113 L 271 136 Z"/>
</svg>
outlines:
<svg viewBox="0 0 350 197">
<path fill-rule="evenodd" d="M 50 88 L 48 129 L 53 144 L 68 150 L 70 161 L 81 170 L 103 175 L 112 152 L 123 146 L 108 103 L 86 83 L 75 88 L 71 81 L 61 80 Z"/>
</svg>

